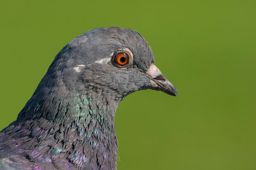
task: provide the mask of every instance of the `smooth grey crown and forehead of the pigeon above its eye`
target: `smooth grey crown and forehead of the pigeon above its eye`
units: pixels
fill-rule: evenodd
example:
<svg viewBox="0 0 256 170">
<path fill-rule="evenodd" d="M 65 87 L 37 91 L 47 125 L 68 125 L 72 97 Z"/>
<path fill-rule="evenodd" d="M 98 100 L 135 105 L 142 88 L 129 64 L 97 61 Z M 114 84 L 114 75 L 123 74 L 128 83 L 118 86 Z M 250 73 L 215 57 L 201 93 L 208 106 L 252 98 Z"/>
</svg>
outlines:
<svg viewBox="0 0 256 170">
<path fill-rule="evenodd" d="M 119 48 L 129 48 L 134 56 L 134 64 L 143 70 L 154 63 L 154 56 L 148 43 L 140 33 L 131 29 L 96 28 L 79 35 L 64 48 L 62 52 L 76 65 L 104 59 Z"/>
</svg>

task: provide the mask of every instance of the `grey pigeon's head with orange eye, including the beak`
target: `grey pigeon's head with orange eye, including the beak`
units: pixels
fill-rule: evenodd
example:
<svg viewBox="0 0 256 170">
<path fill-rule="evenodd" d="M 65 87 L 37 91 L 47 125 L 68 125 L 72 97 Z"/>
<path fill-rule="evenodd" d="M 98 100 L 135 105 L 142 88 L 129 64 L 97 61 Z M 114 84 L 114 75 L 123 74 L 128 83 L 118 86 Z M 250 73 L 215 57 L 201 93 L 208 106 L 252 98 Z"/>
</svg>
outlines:
<svg viewBox="0 0 256 170">
<path fill-rule="evenodd" d="M 61 74 L 66 87 L 76 92 L 90 88 L 107 100 L 121 101 L 142 89 L 177 96 L 155 66 L 148 43 L 131 29 L 96 28 L 79 35 L 60 51 L 48 72 Z"/>
</svg>

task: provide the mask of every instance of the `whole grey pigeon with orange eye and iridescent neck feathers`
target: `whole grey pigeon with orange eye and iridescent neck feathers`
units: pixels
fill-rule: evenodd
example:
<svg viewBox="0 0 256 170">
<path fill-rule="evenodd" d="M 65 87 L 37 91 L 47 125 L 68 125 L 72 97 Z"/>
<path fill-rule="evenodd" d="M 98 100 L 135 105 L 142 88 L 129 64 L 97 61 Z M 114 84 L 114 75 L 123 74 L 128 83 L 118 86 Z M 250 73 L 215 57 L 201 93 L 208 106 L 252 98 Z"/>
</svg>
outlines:
<svg viewBox="0 0 256 170">
<path fill-rule="evenodd" d="M 144 89 L 177 97 L 140 33 L 104 27 L 77 36 L 0 132 L 0 169 L 116 170 L 116 108 Z"/>
</svg>

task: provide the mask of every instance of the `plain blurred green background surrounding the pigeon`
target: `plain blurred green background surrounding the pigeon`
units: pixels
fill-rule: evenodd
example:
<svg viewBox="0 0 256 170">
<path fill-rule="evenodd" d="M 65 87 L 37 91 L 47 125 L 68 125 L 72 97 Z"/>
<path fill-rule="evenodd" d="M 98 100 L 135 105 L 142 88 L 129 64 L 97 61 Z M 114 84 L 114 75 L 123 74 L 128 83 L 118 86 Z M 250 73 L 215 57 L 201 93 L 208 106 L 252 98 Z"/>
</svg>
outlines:
<svg viewBox="0 0 256 170">
<path fill-rule="evenodd" d="M 118 170 L 256 169 L 256 1 L 0 2 L 0 128 L 54 56 L 96 27 L 137 30 L 178 98 L 145 90 L 116 111 Z"/>
</svg>

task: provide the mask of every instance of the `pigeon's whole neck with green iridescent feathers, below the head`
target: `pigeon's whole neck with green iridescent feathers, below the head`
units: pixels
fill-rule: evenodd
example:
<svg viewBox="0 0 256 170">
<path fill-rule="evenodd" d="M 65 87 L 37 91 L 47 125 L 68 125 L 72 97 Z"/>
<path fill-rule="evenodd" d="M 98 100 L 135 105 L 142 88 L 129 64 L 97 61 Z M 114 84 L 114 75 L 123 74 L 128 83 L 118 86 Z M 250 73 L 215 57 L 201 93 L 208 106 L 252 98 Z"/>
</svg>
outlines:
<svg viewBox="0 0 256 170">
<path fill-rule="evenodd" d="M 94 92 L 66 96 L 69 97 L 55 95 L 40 101 L 32 96 L 17 121 L 25 125 L 29 117 L 34 129 L 47 130 L 55 139 L 52 146 L 62 148 L 68 161 L 77 167 L 90 164 L 96 169 L 116 169 L 118 144 L 114 122 L 118 102 L 109 102 Z"/>
</svg>

